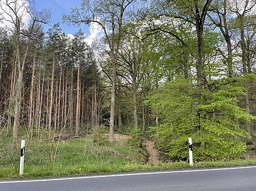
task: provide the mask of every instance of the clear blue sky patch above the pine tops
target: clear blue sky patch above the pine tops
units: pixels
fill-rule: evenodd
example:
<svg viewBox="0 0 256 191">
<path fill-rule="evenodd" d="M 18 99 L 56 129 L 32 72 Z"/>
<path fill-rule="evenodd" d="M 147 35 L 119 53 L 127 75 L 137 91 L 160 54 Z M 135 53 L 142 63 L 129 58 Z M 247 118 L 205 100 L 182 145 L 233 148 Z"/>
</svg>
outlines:
<svg viewBox="0 0 256 191">
<path fill-rule="evenodd" d="M 52 12 L 52 18 L 50 26 L 45 26 L 45 28 L 50 28 L 55 23 L 60 23 L 60 28 L 63 32 L 67 34 L 75 34 L 79 30 L 75 26 L 67 26 L 67 24 L 62 23 L 62 15 L 70 14 L 72 7 L 79 7 L 81 0 L 35 0 L 38 10 L 49 9 Z M 80 27 L 86 35 L 90 35 L 88 27 L 81 25 Z"/>
</svg>

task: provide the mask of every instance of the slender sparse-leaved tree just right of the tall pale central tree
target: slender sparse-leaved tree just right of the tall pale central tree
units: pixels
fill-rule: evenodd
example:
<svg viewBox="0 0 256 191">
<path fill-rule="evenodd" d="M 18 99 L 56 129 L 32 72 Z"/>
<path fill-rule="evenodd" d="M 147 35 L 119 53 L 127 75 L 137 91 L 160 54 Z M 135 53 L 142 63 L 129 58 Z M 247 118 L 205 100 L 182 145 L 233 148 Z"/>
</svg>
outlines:
<svg viewBox="0 0 256 191">
<path fill-rule="evenodd" d="M 143 73 L 147 70 L 148 63 L 144 53 L 151 42 L 139 38 L 141 34 L 134 24 L 126 25 L 125 31 L 120 45 L 117 73 L 133 97 L 134 128 L 138 129 L 138 110 L 142 108 L 139 106 L 139 89 L 142 87 Z"/>
</svg>

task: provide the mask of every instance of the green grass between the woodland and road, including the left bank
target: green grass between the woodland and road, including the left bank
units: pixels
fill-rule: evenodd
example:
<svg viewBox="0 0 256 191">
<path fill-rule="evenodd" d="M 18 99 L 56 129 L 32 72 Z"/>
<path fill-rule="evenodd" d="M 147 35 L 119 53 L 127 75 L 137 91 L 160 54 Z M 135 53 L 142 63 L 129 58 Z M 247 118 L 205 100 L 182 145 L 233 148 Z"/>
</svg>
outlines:
<svg viewBox="0 0 256 191">
<path fill-rule="evenodd" d="M 110 145 L 108 139 L 97 139 L 92 135 L 71 141 L 56 142 L 55 162 L 51 162 L 49 143 L 27 142 L 24 155 L 24 175 L 19 176 L 20 151 L 10 150 L 9 137 L 0 138 L 0 179 L 42 178 L 58 176 L 77 176 L 101 173 L 120 173 L 138 171 L 163 171 L 175 169 L 195 169 L 213 167 L 234 167 L 255 165 L 256 159 L 237 159 L 224 161 L 196 162 L 190 167 L 187 162 L 166 161 L 158 164 L 147 164 L 144 148 L 139 148 L 131 141 L 122 140 Z M 20 141 L 20 140 L 19 140 Z"/>
</svg>

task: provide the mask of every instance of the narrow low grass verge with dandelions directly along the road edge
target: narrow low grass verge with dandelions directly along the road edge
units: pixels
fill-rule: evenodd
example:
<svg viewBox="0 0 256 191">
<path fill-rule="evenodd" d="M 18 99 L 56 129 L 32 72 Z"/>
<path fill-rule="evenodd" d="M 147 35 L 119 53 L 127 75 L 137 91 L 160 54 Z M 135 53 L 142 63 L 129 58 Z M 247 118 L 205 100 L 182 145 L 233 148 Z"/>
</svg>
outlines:
<svg viewBox="0 0 256 191">
<path fill-rule="evenodd" d="M 83 164 L 83 165 L 32 165 L 24 168 L 24 175 L 19 176 L 19 167 L 1 167 L 1 179 L 32 179 L 60 176 L 79 176 L 102 173 L 121 173 L 121 172 L 142 172 L 142 171 L 164 171 L 176 169 L 197 169 L 197 168 L 216 168 L 216 167 L 237 167 L 245 165 L 256 165 L 255 159 L 231 160 L 229 162 L 199 162 L 190 167 L 187 162 L 158 163 L 158 164 Z"/>
</svg>

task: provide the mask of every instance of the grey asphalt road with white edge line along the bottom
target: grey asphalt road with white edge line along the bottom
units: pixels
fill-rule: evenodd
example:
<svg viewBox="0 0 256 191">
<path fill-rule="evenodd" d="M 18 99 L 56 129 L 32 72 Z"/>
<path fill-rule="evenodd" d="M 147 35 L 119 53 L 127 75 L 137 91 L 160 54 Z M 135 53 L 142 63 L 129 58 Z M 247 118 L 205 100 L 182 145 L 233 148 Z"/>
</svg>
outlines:
<svg viewBox="0 0 256 191">
<path fill-rule="evenodd" d="M 0 191 L 255 191 L 256 166 L 0 181 Z"/>
</svg>

